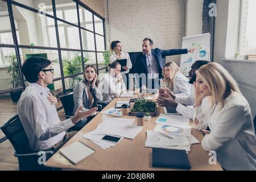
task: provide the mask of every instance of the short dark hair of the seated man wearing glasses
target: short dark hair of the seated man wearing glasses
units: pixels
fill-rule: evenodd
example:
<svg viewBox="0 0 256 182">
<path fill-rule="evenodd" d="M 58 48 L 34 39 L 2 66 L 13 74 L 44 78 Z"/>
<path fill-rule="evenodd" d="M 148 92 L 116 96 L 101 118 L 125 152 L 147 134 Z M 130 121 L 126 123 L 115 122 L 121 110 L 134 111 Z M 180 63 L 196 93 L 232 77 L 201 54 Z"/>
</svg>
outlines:
<svg viewBox="0 0 256 182">
<path fill-rule="evenodd" d="M 51 63 L 44 57 L 30 57 L 22 65 L 22 73 L 28 82 L 35 83 L 39 80 L 38 73 Z"/>
</svg>

